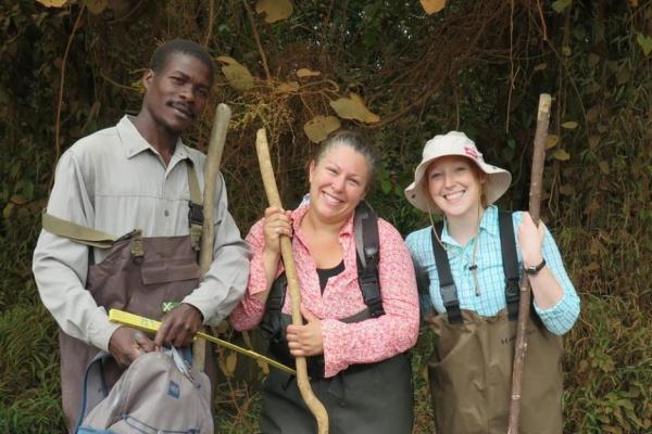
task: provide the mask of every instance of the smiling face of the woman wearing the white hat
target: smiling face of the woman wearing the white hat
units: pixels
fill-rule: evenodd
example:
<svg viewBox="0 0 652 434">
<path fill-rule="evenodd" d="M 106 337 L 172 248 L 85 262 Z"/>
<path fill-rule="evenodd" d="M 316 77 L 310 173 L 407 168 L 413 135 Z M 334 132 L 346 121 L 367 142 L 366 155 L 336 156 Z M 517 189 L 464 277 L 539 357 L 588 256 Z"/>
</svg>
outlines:
<svg viewBox="0 0 652 434">
<path fill-rule="evenodd" d="M 435 159 L 426 170 L 430 199 L 447 218 L 479 213 L 484 174 L 466 157 L 450 155 Z"/>
</svg>

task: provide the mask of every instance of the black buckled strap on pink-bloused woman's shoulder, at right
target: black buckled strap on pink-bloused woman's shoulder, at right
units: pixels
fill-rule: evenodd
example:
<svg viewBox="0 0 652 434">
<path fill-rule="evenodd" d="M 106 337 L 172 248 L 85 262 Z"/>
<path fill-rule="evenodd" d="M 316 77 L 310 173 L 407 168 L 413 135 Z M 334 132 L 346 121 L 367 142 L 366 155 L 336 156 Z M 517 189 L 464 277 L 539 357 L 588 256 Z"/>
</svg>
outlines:
<svg viewBox="0 0 652 434">
<path fill-rule="evenodd" d="M 380 295 L 380 279 L 378 278 L 378 261 L 380 259 L 380 243 L 378 241 L 378 216 L 364 201 L 355 208 L 353 218 L 353 235 L 358 256 L 358 282 L 362 298 L 373 318 L 385 315 L 383 296 Z"/>
</svg>

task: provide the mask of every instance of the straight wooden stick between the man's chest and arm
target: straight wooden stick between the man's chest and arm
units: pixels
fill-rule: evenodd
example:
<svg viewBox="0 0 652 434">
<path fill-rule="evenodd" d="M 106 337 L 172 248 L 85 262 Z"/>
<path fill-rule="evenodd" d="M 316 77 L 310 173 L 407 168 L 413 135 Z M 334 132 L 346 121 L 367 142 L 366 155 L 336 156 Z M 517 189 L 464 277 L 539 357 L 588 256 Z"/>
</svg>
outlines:
<svg viewBox="0 0 652 434">
<path fill-rule="evenodd" d="M 217 104 L 213 128 L 211 129 L 211 141 L 204 165 L 204 196 L 203 196 L 203 224 L 201 227 L 201 250 L 199 252 L 199 276 L 203 277 L 213 263 L 213 240 L 215 227 L 215 180 L 220 173 L 226 130 L 230 120 L 230 108 L 226 104 Z M 202 330 L 200 330 L 201 332 Z M 206 360 L 206 342 L 199 340 L 192 346 L 192 360 L 203 371 Z"/>
</svg>

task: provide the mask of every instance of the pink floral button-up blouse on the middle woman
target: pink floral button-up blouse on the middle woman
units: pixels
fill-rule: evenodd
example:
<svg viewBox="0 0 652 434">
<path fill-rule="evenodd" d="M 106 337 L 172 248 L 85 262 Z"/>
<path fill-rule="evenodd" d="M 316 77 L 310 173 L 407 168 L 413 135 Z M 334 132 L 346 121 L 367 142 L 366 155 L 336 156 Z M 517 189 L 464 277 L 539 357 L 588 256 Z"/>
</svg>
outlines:
<svg viewBox="0 0 652 434">
<path fill-rule="evenodd" d="M 378 273 L 385 315 L 356 323 L 344 323 L 338 319 L 366 308 L 358 284 L 353 217 L 347 221 L 339 237 L 344 252 L 344 271 L 328 279 L 322 295 L 316 265 L 300 228 L 308 207 L 302 205 L 292 212 L 292 246 L 302 305 L 322 320 L 325 376 L 334 376 L 350 365 L 385 360 L 411 348 L 418 334 L 418 296 L 412 259 L 399 232 L 387 221 L 378 219 Z M 244 297 L 230 315 L 230 323 L 237 330 L 255 328 L 265 309 L 264 304 L 252 297 L 265 290 L 265 271 L 261 257 L 264 246 L 262 219 L 251 228 L 247 242 L 253 253 L 249 284 Z M 279 264 L 278 273 L 281 271 L 283 264 Z M 283 311 L 290 314 L 289 292 Z"/>
</svg>

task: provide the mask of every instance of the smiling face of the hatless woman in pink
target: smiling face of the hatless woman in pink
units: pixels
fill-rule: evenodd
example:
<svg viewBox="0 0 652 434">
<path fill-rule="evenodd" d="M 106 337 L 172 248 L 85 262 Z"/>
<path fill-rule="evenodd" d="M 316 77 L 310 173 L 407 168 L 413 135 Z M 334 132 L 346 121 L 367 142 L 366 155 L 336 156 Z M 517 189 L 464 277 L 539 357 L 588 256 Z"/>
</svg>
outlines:
<svg viewBox="0 0 652 434">
<path fill-rule="evenodd" d="M 340 142 L 311 162 L 309 179 L 311 212 L 324 222 L 343 224 L 364 199 L 369 167 L 363 154 Z"/>
</svg>

